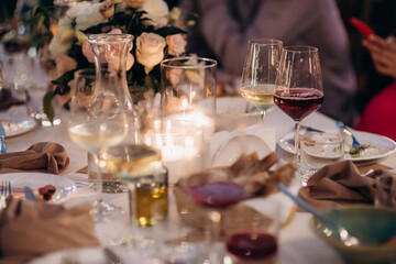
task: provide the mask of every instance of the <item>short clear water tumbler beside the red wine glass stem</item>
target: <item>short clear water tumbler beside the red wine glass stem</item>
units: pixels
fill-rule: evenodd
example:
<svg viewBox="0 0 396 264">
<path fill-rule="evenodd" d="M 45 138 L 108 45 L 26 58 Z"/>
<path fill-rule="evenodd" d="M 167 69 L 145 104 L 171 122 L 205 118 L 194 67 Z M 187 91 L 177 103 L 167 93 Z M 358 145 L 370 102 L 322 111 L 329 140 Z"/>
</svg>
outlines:
<svg viewBox="0 0 396 264">
<path fill-rule="evenodd" d="M 340 134 L 309 132 L 301 136 L 301 185 L 321 167 L 342 161 L 344 140 Z"/>
</svg>

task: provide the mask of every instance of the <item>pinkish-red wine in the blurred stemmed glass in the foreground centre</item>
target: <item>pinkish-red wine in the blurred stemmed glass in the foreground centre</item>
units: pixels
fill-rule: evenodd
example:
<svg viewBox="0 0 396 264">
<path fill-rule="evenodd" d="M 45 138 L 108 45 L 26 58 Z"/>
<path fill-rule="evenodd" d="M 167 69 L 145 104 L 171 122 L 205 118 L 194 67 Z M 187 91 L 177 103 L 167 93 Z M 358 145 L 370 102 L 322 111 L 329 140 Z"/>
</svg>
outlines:
<svg viewBox="0 0 396 264">
<path fill-rule="evenodd" d="M 223 209 L 239 202 L 243 196 L 243 186 L 231 182 L 212 182 L 189 188 L 193 199 L 205 207 Z"/>
</svg>

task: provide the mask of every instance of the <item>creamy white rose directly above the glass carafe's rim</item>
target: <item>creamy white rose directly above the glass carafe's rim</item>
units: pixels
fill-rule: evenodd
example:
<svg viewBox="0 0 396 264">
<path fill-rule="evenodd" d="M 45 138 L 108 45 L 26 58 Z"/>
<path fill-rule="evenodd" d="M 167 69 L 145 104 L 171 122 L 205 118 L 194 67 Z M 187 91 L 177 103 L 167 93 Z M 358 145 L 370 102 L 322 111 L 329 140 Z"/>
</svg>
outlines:
<svg viewBox="0 0 396 264">
<path fill-rule="evenodd" d="M 107 19 L 100 13 L 102 3 L 92 3 L 82 9 L 76 18 L 76 30 L 85 31 L 94 25 L 107 22 Z"/>
</svg>

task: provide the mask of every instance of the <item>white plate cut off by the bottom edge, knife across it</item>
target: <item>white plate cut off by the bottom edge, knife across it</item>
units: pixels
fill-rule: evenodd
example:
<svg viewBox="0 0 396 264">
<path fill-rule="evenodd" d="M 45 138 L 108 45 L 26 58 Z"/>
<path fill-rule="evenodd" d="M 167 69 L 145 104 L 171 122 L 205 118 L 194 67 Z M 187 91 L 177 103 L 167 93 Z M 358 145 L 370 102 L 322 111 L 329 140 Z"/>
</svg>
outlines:
<svg viewBox="0 0 396 264">
<path fill-rule="evenodd" d="M 142 256 L 142 253 L 133 252 L 132 250 L 127 251 L 121 248 L 113 248 L 113 252 L 122 261 L 122 263 L 140 263 L 140 264 L 161 264 L 158 260 L 153 260 Z M 42 257 L 35 258 L 29 264 L 63 264 L 65 258 L 69 257 L 77 260 L 78 263 L 84 264 L 106 264 L 108 262 L 103 249 L 101 248 L 86 248 L 77 250 L 65 250 L 57 251 Z M 77 263 L 77 262 L 76 262 Z"/>
</svg>

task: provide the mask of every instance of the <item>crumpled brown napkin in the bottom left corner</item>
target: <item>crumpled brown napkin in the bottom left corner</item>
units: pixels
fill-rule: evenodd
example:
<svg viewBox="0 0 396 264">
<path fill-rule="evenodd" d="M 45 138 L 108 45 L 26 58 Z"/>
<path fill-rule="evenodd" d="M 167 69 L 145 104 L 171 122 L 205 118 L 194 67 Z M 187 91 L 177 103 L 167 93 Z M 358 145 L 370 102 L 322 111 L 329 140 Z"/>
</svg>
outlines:
<svg viewBox="0 0 396 264">
<path fill-rule="evenodd" d="M 66 249 L 98 246 L 90 205 L 61 205 L 11 199 L 0 215 L 0 263 L 24 263 Z"/>
</svg>

